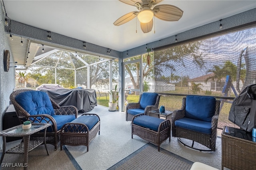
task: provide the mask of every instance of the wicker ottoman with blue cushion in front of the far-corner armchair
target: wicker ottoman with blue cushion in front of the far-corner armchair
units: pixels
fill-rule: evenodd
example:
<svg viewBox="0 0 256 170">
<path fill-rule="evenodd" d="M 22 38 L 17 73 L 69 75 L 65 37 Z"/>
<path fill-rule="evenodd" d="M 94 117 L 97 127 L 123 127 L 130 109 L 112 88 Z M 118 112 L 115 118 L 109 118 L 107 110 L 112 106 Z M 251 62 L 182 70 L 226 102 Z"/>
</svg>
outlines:
<svg viewBox="0 0 256 170">
<path fill-rule="evenodd" d="M 133 134 L 140 136 L 158 146 L 169 138 L 171 141 L 171 122 L 170 120 L 159 119 L 157 117 L 146 116 L 144 114 L 135 115 L 132 118 L 132 138 Z"/>
</svg>

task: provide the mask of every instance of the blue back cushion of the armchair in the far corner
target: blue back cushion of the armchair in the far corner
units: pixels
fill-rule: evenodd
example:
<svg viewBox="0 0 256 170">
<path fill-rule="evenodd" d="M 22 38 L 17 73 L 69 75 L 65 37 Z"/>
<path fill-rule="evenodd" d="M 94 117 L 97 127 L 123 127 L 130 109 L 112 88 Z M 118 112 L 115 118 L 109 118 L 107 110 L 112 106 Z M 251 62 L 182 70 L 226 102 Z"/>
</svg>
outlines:
<svg viewBox="0 0 256 170">
<path fill-rule="evenodd" d="M 142 93 L 140 99 L 140 109 L 145 109 L 149 105 L 155 105 L 157 96 L 157 93 Z"/>
</svg>

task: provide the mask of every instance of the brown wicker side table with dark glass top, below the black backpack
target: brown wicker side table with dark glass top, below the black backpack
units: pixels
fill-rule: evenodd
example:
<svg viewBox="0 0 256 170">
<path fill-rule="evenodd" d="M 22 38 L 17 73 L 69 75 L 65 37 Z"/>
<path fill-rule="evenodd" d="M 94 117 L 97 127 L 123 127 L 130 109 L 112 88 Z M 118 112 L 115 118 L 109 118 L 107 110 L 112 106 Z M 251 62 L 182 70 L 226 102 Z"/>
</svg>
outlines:
<svg viewBox="0 0 256 170">
<path fill-rule="evenodd" d="M 256 142 L 252 141 L 252 133 L 224 126 L 221 144 L 222 170 L 224 167 L 232 170 L 256 169 Z"/>
</svg>

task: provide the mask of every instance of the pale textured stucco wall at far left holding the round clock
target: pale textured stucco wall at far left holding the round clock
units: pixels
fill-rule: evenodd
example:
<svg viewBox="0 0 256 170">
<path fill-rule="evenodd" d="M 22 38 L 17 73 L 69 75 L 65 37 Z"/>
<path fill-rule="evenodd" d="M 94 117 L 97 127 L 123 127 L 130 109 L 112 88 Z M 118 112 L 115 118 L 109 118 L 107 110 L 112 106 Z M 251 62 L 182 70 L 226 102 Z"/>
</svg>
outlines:
<svg viewBox="0 0 256 170">
<path fill-rule="evenodd" d="M 10 51 L 11 62 L 13 62 L 12 51 L 8 36 L 4 32 L 4 12 L 2 3 L 0 3 L 0 130 L 2 130 L 2 118 L 10 103 L 10 94 L 14 89 L 14 67 L 11 67 L 8 72 L 4 71 L 4 50 Z M 12 65 L 12 64 L 10 64 Z M 0 138 L 0 149 L 2 150 L 2 137 Z"/>
</svg>

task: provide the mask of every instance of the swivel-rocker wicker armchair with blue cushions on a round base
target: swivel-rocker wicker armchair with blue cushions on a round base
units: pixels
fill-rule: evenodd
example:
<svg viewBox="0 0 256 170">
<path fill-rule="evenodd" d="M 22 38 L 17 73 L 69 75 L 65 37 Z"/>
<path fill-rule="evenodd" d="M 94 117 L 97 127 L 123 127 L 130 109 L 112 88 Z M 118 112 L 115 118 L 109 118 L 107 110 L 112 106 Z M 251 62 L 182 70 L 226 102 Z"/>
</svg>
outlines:
<svg viewBox="0 0 256 170">
<path fill-rule="evenodd" d="M 172 136 L 178 137 L 179 142 L 190 148 L 215 151 L 219 113 L 220 100 L 214 97 L 197 95 L 184 97 L 181 110 L 174 111 L 172 115 Z M 192 140 L 192 145 L 185 144 L 180 138 Z M 194 142 L 210 150 L 194 148 Z"/>
</svg>

